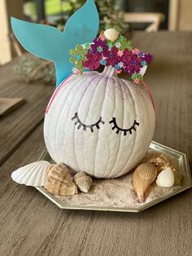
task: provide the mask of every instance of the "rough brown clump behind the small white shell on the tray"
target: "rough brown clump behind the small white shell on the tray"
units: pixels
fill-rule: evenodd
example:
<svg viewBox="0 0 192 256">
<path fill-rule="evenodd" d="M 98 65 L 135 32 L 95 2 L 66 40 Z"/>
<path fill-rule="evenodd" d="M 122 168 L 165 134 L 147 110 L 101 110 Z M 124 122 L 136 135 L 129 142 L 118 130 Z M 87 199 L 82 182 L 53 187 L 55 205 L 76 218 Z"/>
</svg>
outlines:
<svg viewBox="0 0 192 256">
<path fill-rule="evenodd" d="M 170 167 L 174 173 L 174 180 L 175 184 L 181 183 L 181 171 L 179 170 L 179 167 L 176 162 L 174 162 L 170 157 L 165 155 L 164 153 L 155 155 L 154 157 L 151 157 L 149 160 L 152 164 L 154 164 L 157 167 L 158 173 L 161 170 L 166 169 L 167 167 Z"/>
</svg>

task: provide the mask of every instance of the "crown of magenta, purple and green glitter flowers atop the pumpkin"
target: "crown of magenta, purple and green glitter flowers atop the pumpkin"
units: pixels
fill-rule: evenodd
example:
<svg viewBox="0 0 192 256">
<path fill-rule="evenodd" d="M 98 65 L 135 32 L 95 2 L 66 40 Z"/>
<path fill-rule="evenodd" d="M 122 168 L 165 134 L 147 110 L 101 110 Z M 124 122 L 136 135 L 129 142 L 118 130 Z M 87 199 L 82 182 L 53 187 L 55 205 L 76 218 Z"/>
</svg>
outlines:
<svg viewBox="0 0 192 256">
<path fill-rule="evenodd" d="M 107 31 L 106 31 L 107 32 Z M 116 40 L 107 39 L 107 34 L 100 33 L 93 43 L 77 45 L 70 50 L 70 61 L 75 64 L 72 72 L 81 74 L 85 70 L 95 70 L 102 66 L 112 66 L 116 73 L 129 73 L 135 84 L 142 81 L 142 68 L 151 64 L 153 57 L 137 48 L 132 48 L 131 42 L 118 33 Z"/>
</svg>

